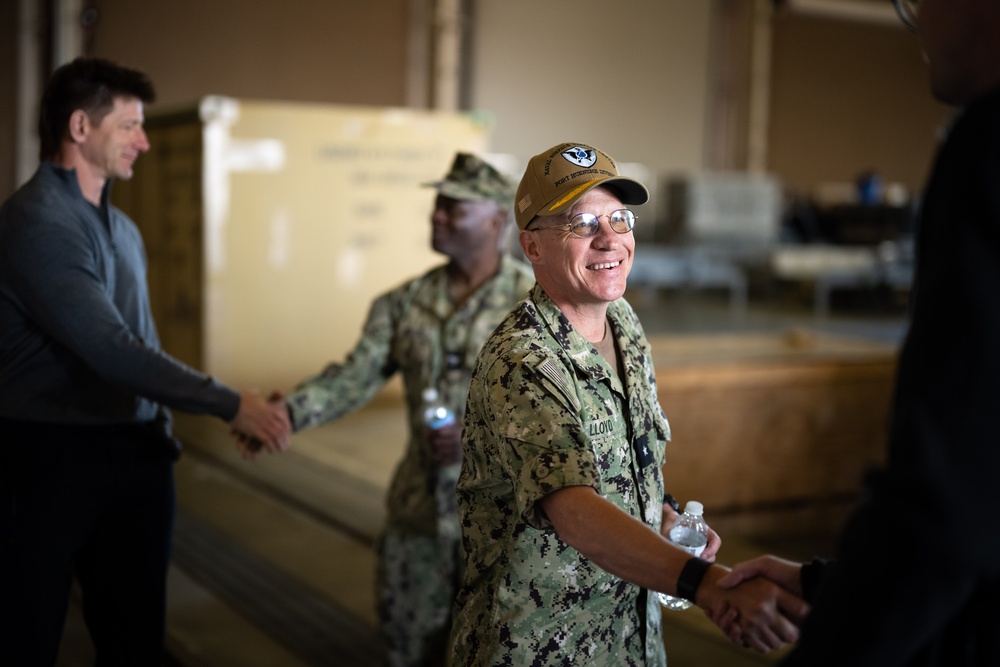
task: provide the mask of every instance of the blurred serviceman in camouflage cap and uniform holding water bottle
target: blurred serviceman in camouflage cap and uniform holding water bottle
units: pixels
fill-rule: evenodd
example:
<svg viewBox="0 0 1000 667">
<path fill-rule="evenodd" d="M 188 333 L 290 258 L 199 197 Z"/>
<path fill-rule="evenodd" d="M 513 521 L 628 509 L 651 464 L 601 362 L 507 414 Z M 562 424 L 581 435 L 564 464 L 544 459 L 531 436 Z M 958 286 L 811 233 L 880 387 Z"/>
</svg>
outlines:
<svg viewBox="0 0 1000 667">
<path fill-rule="evenodd" d="M 534 283 L 527 265 L 501 251 L 513 201 L 509 179 L 460 153 L 447 176 L 429 185 L 438 190 L 432 244 L 448 263 L 378 297 L 346 361 L 327 366 L 287 398 L 298 431 L 365 405 L 402 373 L 410 435 L 377 544 L 378 612 L 393 667 L 446 662 L 461 565 L 454 486 L 472 366 Z M 437 389 L 455 411 L 455 425 L 425 428 L 426 388 Z M 436 503 L 436 495 L 446 502 Z"/>
</svg>

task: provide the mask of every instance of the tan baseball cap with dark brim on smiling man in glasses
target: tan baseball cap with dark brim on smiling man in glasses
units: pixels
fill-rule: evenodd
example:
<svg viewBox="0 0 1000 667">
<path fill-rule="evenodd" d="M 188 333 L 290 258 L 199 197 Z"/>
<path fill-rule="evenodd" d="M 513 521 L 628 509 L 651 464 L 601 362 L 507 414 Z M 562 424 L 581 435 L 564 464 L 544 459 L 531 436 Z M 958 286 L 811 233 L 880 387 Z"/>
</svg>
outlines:
<svg viewBox="0 0 1000 667">
<path fill-rule="evenodd" d="M 524 229 L 535 216 L 562 213 L 598 185 L 611 187 L 623 204 L 649 201 L 639 181 L 618 175 L 610 155 L 587 144 L 553 146 L 528 161 L 514 198 L 514 218 Z"/>
</svg>

